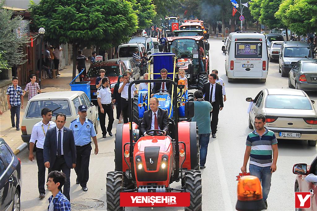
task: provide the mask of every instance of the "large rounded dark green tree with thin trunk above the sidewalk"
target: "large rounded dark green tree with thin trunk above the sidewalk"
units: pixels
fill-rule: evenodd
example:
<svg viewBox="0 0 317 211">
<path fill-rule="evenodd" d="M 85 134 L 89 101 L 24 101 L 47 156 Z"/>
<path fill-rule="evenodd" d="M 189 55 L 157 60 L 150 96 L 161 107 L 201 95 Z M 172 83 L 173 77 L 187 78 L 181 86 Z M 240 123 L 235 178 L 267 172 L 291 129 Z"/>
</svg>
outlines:
<svg viewBox="0 0 317 211">
<path fill-rule="evenodd" d="M 128 40 L 138 27 L 132 3 L 126 0 L 42 0 L 30 7 L 36 28 L 44 27 L 50 43 L 107 49 Z M 73 59 L 73 78 L 76 75 Z"/>
</svg>

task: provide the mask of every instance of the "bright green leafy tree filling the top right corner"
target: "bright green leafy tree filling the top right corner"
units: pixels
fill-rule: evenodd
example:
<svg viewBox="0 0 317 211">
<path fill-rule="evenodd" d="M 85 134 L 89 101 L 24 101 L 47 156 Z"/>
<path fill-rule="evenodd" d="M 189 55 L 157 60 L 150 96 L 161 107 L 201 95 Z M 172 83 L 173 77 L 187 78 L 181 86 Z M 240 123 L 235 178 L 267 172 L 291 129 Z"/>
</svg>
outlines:
<svg viewBox="0 0 317 211">
<path fill-rule="evenodd" d="M 284 13 L 277 13 L 283 22 L 296 34 L 307 34 L 317 31 L 317 0 L 296 0 L 284 9 Z M 283 6 L 283 5 L 282 5 Z M 284 7 L 280 7 L 283 10 Z"/>
</svg>

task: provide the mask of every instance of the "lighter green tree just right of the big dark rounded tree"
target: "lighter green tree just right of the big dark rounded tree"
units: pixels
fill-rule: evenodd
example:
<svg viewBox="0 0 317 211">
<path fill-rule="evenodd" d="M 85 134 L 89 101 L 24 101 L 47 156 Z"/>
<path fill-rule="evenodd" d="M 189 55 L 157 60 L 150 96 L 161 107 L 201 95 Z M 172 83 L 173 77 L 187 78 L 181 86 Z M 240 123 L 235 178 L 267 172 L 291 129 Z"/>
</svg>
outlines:
<svg viewBox="0 0 317 211">
<path fill-rule="evenodd" d="M 129 0 L 133 4 L 133 10 L 139 17 L 139 29 L 145 29 L 152 24 L 153 18 L 157 15 L 152 0 Z"/>
</svg>

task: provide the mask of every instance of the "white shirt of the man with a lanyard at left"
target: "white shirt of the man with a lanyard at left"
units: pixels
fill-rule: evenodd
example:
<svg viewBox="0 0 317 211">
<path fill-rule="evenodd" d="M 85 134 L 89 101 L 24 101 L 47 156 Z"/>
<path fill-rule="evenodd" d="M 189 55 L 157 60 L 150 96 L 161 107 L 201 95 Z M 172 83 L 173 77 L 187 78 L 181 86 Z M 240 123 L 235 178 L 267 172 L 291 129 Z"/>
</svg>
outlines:
<svg viewBox="0 0 317 211">
<path fill-rule="evenodd" d="M 43 123 L 43 120 L 37 122 L 33 126 L 30 142 L 35 143 L 35 141 L 37 140 L 36 147 L 39 149 L 43 149 L 46 132 L 49 128 L 53 127 L 56 127 L 56 123 L 54 121 L 49 121 L 47 125 Z"/>
</svg>

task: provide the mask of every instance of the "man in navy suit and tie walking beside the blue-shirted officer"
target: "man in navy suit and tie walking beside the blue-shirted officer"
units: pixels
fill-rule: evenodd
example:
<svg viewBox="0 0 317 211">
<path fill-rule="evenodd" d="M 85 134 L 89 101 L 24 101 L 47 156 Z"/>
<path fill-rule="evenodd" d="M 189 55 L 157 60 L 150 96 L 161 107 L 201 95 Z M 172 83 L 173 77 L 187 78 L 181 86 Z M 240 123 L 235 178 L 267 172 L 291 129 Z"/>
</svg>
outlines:
<svg viewBox="0 0 317 211">
<path fill-rule="evenodd" d="M 70 169 L 76 166 L 76 147 L 73 131 L 64 127 L 66 115 L 56 115 L 56 127 L 49 128 L 45 135 L 44 165 L 50 171 L 62 171 L 66 175 L 63 194 L 70 201 Z"/>
</svg>

